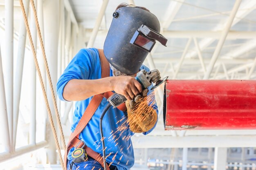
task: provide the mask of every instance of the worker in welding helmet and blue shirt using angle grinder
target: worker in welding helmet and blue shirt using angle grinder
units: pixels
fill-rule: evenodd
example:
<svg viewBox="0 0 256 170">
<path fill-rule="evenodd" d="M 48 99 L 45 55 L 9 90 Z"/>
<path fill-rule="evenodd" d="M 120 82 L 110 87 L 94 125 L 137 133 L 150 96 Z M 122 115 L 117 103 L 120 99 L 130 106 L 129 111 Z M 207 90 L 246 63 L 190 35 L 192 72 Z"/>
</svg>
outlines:
<svg viewBox="0 0 256 170">
<path fill-rule="evenodd" d="M 148 104 L 147 107 L 152 108 L 148 113 L 141 113 L 148 119 L 131 121 L 134 106 L 131 106 L 130 101 L 145 93 L 134 77 L 141 69 L 149 71 L 142 63 L 154 46 L 154 42 L 137 31 L 143 25 L 152 31 L 160 31 L 159 21 L 148 9 L 120 4 L 113 13 L 103 53 L 95 48 L 81 49 L 58 79 L 58 97 L 63 101 L 77 101 L 71 131 L 74 134 L 78 124 L 81 129 L 79 135 L 71 137 L 67 146 L 67 159 L 64 160 L 67 161 L 67 170 L 103 170 L 99 118 L 108 103 L 104 96 L 107 92 L 115 91 L 128 100 L 123 109 L 110 108 L 103 119 L 106 162 L 110 170 L 129 170 L 134 164 L 130 137 L 135 132 L 146 135 L 155 127 L 158 114 L 155 102 L 153 105 Z M 132 42 L 132 39 L 135 41 Z M 104 60 L 110 65 L 104 65 Z M 105 74 L 107 76 L 104 77 Z M 149 90 L 147 94 L 151 92 Z M 97 106 L 90 106 L 92 102 L 97 101 L 93 98 L 95 96 L 99 97 L 100 102 Z M 92 117 L 86 126 L 81 128 L 80 123 L 84 122 L 79 121 L 85 113 L 92 113 Z M 88 119 L 87 115 L 84 117 Z M 120 130 L 120 127 L 123 127 L 123 130 Z"/>
</svg>

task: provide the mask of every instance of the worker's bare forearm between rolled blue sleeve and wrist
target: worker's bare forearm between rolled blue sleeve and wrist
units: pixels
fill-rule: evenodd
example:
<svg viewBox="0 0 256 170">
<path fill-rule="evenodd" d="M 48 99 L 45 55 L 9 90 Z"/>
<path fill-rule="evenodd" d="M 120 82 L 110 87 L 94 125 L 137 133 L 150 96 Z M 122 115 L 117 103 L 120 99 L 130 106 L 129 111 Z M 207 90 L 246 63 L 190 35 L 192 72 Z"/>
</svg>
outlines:
<svg viewBox="0 0 256 170">
<path fill-rule="evenodd" d="M 63 97 L 68 101 L 80 101 L 93 95 L 112 90 L 112 77 L 102 79 L 72 79 L 66 84 Z"/>
</svg>

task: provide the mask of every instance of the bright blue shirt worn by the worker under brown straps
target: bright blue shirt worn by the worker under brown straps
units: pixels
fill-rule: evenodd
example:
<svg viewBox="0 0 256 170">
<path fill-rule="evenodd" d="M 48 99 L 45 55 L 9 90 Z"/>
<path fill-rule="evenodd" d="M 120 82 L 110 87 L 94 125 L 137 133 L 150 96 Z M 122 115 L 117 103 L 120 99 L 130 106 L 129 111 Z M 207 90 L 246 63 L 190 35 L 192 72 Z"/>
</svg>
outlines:
<svg viewBox="0 0 256 170">
<path fill-rule="evenodd" d="M 146 66 L 141 66 L 140 69 L 149 71 Z M 113 76 L 110 69 L 110 76 Z M 100 79 L 101 78 L 101 62 L 99 58 L 99 52 L 97 49 L 81 49 L 70 64 L 67 66 L 61 77 L 57 82 L 57 94 L 58 97 L 65 101 L 63 98 L 63 89 L 67 82 L 71 79 Z M 150 89 L 150 88 L 149 88 Z M 148 93 L 150 93 L 149 91 Z M 92 97 L 88 99 L 78 101 L 75 104 L 75 110 L 73 115 L 73 124 L 71 131 L 73 132 L 78 122 L 80 121 L 85 109 L 90 103 Z M 87 126 L 79 135 L 79 139 L 85 141 L 85 144 L 95 152 L 102 155 L 101 135 L 99 133 L 99 118 L 105 106 L 107 105 L 107 99 L 103 98 L 101 104 L 95 111 L 94 115 L 90 119 Z M 153 108 L 157 110 L 157 105 L 153 105 Z M 158 113 L 158 110 L 157 110 Z M 132 141 L 130 137 L 134 135 L 128 126 L 127 112 L 123 112 L 117 108 L 112 107 L 107 111 L 103 118 L 103 135 L 105 138 L 106 155 L 108 155 L 106 161 L 112 162 L 112 165 L 117 166 L 118 170 L 128 170 L 134 164 L 134 152 L 132 147 Z M 144 132 L 144 135 L 150 131 Z M 70 150 L 67 159 L 72 159 L 71 153 L 74 148 Z"/>
</svg>

